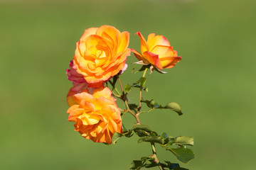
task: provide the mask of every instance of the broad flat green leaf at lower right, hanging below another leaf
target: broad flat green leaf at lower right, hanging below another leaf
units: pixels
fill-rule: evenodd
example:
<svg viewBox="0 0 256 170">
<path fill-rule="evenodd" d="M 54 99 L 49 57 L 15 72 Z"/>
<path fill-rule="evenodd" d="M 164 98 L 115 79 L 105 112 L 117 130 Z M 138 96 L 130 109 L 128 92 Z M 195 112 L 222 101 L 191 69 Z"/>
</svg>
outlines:
<svg viewBox="0 0 256 170">
<path fill-rule="evenodd" d="M 193 151 L 186 148 L 186 146 L 181 146 L 178 148 L 166 147 L 166 149 L 171 151 L 176 156 L 176 158 L 184 164 L 187 164 L 191 159 L 195 158 Z"/>
</svg>

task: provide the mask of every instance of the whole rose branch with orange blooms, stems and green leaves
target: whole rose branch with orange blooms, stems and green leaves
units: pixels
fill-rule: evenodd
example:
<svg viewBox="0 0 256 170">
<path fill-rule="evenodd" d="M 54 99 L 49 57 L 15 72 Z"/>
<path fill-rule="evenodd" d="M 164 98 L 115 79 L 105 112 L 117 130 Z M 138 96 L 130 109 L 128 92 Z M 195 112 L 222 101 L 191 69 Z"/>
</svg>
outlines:
<svg viewBox="0 0 256 170">
<path fill-rule="evenodd" d="M 160 105 L 154 99 L 142 99 L 142 90 L 148 91 L 148 87 L 144 87 L 148 69 L 150 69 L 150 74 L 154 71 L 164 74 L 166 72 L 163 69 L 174 67 L 181 61 L 181 57 L 163 35 L 151 33 L 147 40 L 140 32 L 136 35 L 141 41 L 141 52 L 129 49 L 127 31 L 121 33 L 112 26 L 85 30 L 80 40 L 76 42 L 75 55 L 70 61 L 70 69 L 66 72 L 68 79 L 73 83 L 67 95 L 70 107 L 67 111 L 68 120 L 75 123 L 75 131 L 93 142 L 110 145 L 115 144 L 122 136 L 132 137 L 134 134 L 139 136 L 139 143 L 149 142 L 153 155 L 132 161 L 130 169 L 154 166 L 159 166 L 159 169 L 183 169 L 179 164 L 169 161 L 160 162 L 156 155 L 155 144 L 164 147 L 174 154 L 178 161 L 186 164 L 194 158 L 192 150 L 186 147 L 186 145 L 193 145 L 193 137 L 171 137 L 165 132 L 158 134 L 147 125 L 142 125 L 139 120 L 140 113 L 156 109 L 175 111 L 178 115 L 183 114 L 178 103 L 170 102 Z M 144 73 L 133 84 L 122 86 L 119 75 L 127 69 L 126 60 L 131 51 L 139 60 L 136 64 L 142 64 L 139 72 Z M 117 81 L 122 93 L 115 86 Z M 107 87 L 108 84 L 112 86 L 112 90 Z M 133 88 L 139 88 L 138 105 L 128 103 L 127 100 L 127 95 Z M 124 101 L 126 109 L 119 108 L 115 102 L 117 99 L 114 97 Z M 142 103 L 145 103 L 149 110 L 142 111 Z M 128 130 L 122 122 L 127 112 L 137 120 L 137 123 Z"/>
</svg>

